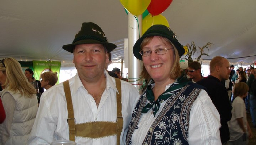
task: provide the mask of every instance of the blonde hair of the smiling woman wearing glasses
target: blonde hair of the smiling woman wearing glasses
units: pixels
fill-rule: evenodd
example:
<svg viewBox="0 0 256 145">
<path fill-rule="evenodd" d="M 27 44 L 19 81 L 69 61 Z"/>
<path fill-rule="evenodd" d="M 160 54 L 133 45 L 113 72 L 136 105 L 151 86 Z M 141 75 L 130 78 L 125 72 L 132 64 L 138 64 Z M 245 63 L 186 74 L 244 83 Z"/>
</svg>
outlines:
<svg viewBox="0 0 256 145">
<path fill-rule="evenodd" d="M 154 36 L 148 36 L 145 37 L 143 39 L 143 41 L 141 42 L 140 48 L 143 48 L 145 45 L 147 45 L 148 43 L 151 42 L 151 40 L 153 39 Z M 181 76 L 182 74 L 182 69 L 180 68 L 180 57 L 179 57 L 179 53 L 177 48 L 175 47 L 175 45 L 168 39 L 165 37 L 161 37 L 161 36 L 156 36 L 161 42 L 165 43 L 165 44 L 169 44 L 172 45 L 174 48 L 174 61 L 173 61 L 173 65 L 172 65 L 172 70 L 170 71 L 170 78 L 171 79 L 177 79 L 178 77 Z M 151 76 L 148 74 L 144 64 L 143 64 L 143 69 L 141 71 L 141 77 L 145 78 L 146 80 L 151 79 Z"/>
</svg>

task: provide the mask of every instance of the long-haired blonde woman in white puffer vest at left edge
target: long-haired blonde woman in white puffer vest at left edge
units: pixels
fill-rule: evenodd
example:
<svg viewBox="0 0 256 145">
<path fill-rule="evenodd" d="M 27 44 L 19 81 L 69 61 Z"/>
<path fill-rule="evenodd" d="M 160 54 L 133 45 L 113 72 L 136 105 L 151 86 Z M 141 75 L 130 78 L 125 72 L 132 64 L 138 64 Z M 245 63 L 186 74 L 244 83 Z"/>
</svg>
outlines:
<svg viewBox="0 0 256 145">
<path fill-rule="evenodd" d="M 37 113 L 36 90 L 13 58 L 0 62 L 1 99 L 6 113 L 0 124 L 0 145 L 27 145 Z"/>
</svg>

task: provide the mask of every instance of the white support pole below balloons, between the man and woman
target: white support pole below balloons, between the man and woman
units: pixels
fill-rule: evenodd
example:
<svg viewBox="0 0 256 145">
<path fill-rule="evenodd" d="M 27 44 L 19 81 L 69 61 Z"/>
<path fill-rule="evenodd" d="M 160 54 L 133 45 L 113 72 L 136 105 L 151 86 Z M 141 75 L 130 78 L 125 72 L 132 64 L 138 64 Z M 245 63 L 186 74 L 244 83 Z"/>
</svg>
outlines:
<svg viewBox="0 0 256 145">
<path fill-rule="evenodd" d="M 133 55 L 132 48 L 142 33 L 142 15 L 137 17 L 128 13 L 128 81 L 142 93 L 142 79 L 139 79 L 142 71 L 142 62 Z M 138 52 L 139 53 L 139 52 Z"/>
</svg>

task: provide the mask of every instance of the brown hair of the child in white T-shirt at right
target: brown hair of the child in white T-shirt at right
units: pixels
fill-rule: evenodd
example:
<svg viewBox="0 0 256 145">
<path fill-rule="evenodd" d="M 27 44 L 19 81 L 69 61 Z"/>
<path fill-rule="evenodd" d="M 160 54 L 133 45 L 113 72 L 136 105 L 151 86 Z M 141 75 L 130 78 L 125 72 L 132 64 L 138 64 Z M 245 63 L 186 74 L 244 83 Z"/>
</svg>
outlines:
<svg viewBox="0 0 256 145">
<path fill-rule="evenodd" d="M 233 88 L 234 98 L 237 96 L 243 96 L 248 91 L 249 91 L 249 87 L 245 82 L 238 82 L 234 85 L 234 88 Z"/>
</svg>

